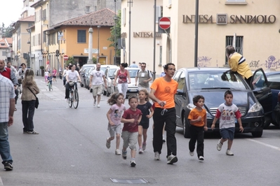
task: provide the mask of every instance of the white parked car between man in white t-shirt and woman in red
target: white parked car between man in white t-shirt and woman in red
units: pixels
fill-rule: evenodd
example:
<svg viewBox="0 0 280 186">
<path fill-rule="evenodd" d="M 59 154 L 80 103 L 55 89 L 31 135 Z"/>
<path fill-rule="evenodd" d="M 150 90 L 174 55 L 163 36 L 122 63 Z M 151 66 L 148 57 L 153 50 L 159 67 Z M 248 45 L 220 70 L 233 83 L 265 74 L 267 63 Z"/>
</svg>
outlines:
<svg viewBox="0 0 280 186">
<path fill-rule="evenodd" d="M 107 82 L 107 88 L 104 88 L 103 95 L 109 96 L 114 92 L 114 72 L 119 69 L 116 65 L 107 65 L 105 70 L 105 79 Z"/>
</svg>

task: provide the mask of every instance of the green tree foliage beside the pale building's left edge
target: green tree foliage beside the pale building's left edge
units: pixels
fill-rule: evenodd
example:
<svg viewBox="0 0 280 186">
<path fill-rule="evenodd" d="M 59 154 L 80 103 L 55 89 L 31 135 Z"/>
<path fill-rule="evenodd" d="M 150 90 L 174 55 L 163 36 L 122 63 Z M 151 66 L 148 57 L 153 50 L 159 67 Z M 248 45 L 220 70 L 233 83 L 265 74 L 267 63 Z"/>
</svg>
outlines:
<svg viewBox="0 0 280 186">
<path fill-rule="evenodd" d="M 119 10 L 119 13 L 116 15 L 116 17 L 116 41 L 114 41 L 115 27 L 111 27 L 111 36 L 108 38 L 108 41 L 112 42 L 109 47 L 114 47 L 116 43 L 116 57 L 120 57 L 121 50 L 118 49 L 118 38 L 121 38 L 121 10 Z"/>
</svg>

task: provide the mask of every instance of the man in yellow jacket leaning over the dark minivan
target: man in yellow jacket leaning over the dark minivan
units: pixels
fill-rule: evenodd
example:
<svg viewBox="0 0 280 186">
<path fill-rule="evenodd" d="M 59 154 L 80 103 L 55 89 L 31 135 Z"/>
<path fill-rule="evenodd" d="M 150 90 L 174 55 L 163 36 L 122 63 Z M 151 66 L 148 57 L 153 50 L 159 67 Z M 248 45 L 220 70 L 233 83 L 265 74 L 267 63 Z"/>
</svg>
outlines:
<svg viewBox="0 0 280 186">
<path fill-rule="evenodd" d="M 253 73 L 246 62 L 245 57 L 238 52 L 235 52 L 232 45 L 228 45 L 227 48 L 225 48 L 225 52 L 231 71 L 239 73 L 246 80 L 248 85 L 251 86 L 250 83 Z"/>
</svg>

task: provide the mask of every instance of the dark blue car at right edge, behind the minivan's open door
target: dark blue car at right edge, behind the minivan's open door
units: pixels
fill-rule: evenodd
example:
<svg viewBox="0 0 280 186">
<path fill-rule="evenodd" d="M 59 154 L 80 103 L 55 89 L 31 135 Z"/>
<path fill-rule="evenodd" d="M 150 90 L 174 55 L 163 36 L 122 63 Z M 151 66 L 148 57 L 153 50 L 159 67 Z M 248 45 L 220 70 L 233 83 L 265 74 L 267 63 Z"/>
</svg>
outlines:
<svg viewBox="0 0 280 186">
<path fill-rule="evenodd" d="M 256 73 L 255 82 L 253 85 L 255 87 L 262 88 L 266 86 L 265 78 L 262 76 L 261 71 Z M 280 71 L 265 71 L 265 76 L 267 77 L 267 86 L 270 87 L 272 92 L 272 102 L 270 103 L 270 108 L 265 112 L 265 125 L 264 129 L 267 129 L 272 123 L 276 126 L 280 126 L 280 112 L 277 111 L 276 106 L 278 106 L 278 94 L 280 91 Z"/>
</svg>

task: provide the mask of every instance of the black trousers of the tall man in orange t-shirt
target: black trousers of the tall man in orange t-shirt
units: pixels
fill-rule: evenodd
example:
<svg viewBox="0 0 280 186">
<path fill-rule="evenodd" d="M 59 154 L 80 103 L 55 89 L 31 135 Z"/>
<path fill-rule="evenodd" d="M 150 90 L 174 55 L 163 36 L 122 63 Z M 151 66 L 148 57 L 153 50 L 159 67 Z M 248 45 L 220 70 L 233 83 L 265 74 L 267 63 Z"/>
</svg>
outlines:
<svg viewBox="0 0 280 186">
<path fill-rule="evenodd" d="M 176 112 L 175 108 L 155 108 L 154 109 L 154 131 L 153 131 L 153 147 L 154 152 L 161 154 L 162 149 L 162 130 L 164 123 L 166 124 L 166 144 L 167 144 L 167 157 L 169 155 L 177 154 L 177 142 L 175 138 L 176 129 Z"/>
</svg>

